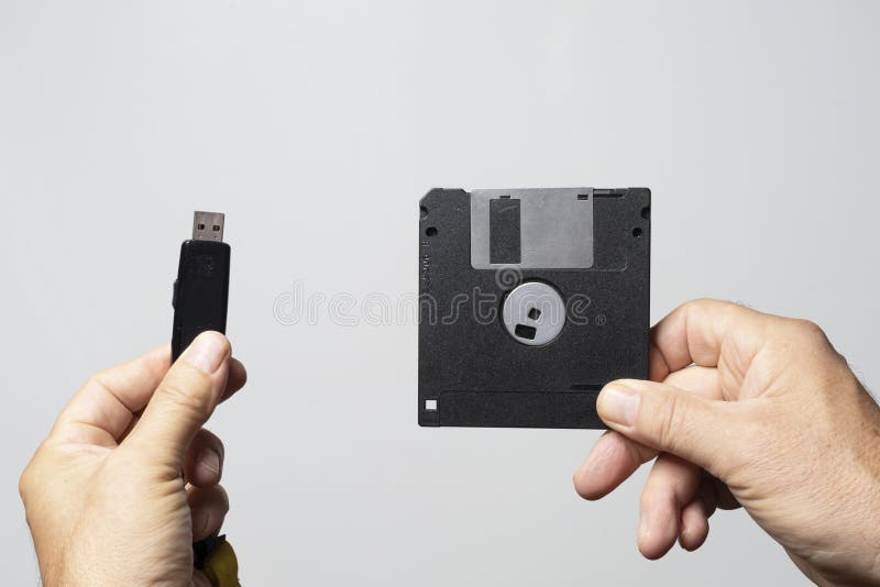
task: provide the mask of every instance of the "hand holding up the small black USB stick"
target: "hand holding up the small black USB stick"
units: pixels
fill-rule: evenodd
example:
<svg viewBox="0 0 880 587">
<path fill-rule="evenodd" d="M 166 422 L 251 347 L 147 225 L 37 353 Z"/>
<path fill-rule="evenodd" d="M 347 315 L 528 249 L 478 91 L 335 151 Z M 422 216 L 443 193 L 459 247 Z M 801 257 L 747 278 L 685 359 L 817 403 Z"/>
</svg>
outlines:
<svg viewBox="0 0 880 587">
<path fill-rule="evenodd" d="M 246 373 L 204 336 L 213 352 L 191 345 L 169 368 L 164 345 L 89 379 L 25 467 L 43 584 L 207 585 L 193 540 L 220 530 L 229 501 L 222 443 L 201 427 Z"/>
</svg>

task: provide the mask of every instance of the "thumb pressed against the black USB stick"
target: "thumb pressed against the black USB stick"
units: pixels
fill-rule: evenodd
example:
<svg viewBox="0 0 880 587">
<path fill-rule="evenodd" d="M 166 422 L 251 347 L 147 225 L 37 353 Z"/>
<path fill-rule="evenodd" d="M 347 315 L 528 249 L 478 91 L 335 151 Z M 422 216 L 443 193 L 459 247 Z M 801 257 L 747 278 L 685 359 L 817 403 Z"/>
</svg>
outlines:
<svg viewBox="0 0 880 587">
<path fill-rule="evenodd" d="M 219 332 L 202 332 L 172 365 L 125 444 L 154 464 L 179 467 L 189 443 L 220 401 L 231 347 Z"/>
</svg>

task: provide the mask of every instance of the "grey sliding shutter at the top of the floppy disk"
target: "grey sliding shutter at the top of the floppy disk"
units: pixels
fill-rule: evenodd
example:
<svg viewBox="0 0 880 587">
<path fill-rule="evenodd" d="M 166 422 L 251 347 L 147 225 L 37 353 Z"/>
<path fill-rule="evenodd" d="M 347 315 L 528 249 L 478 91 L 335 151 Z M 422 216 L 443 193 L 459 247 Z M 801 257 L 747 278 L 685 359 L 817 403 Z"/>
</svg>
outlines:
<svg viewBox="0 0 880 587">
<path fill-rule="evenodd" d="M 471 192 L 471 266 L 593 267 L 592 189 Z"/>
</svg>

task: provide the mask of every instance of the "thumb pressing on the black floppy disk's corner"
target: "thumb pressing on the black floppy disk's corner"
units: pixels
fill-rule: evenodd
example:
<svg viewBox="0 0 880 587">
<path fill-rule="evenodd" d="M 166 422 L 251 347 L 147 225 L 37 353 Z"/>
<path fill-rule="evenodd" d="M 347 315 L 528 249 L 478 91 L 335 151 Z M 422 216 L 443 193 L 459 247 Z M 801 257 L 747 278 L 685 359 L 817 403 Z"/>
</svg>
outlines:
<svg viewBox="0 0 880 587">
<path fill-rule="evenodd" d="M 637 379 L 612 381 L 596 399 L 598 416 L 608 428 L 707 470 L 736 454 L 728 440 L 737 422 L 733 407 L 671 385 Z"/>
</svg>

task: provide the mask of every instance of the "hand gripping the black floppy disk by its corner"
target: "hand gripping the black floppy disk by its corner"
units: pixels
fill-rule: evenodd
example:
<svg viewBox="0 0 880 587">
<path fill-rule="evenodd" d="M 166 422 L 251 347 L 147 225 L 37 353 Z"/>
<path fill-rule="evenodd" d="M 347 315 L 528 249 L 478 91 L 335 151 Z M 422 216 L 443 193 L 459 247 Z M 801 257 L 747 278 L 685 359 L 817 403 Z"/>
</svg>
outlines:
<svg viewBox="0 0 880 587">
<path fill-rule="evenodd" d="M 816 325 L 717 300 L 651 335 L 651 380 L 598 397 L 612 431 L 574 476 L 598 499 L 656 458 L 638 545 L 692 551 L 743 506 L 818 585 L 880 585 L 880 408 Z"/>
</svg>

